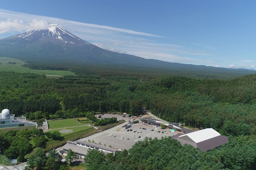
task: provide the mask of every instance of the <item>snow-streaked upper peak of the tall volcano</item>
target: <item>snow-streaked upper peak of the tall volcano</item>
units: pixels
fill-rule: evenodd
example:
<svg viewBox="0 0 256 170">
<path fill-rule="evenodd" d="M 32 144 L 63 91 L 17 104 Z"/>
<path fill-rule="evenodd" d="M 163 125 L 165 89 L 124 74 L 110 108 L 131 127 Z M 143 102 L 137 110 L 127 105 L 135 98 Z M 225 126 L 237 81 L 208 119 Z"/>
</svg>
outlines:
<svg viewBox="0 0 256 170">
<path fill-rule="evenodd" d="M 68 30 L 63 27 L 60 27 L 58 24 L 49 23 L 49 28 L 46 30 L 29 30 L 23 32 L 21 34 L 14 35 L 12 37 L 20 38 L 20 40 L 42 40 L 42 39 L 52 39 L 53 41 L 63 41 L 64 43 L 71 44 L 71 45 L 83 45 L 88 44 L 89 42 L 77 37 L 76 35 L 72 34 Z"/>
</svg>

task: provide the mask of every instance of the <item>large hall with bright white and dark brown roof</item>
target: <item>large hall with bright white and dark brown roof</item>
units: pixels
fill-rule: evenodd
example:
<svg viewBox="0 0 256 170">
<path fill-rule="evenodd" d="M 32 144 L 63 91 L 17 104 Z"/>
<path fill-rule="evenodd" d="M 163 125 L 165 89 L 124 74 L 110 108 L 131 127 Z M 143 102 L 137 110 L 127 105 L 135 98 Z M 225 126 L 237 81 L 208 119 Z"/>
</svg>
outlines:
<svg viewBox="0 0 256 170">
<path fill-rule="evenodd" d="M 182 145 L 189 144 L 203 151 L 209 151 L 228 142 L 228 137 L 220 135 L 216 130 L 207 128 L 196 132 L 181 134 L 172 137 Z"/>
</svg>

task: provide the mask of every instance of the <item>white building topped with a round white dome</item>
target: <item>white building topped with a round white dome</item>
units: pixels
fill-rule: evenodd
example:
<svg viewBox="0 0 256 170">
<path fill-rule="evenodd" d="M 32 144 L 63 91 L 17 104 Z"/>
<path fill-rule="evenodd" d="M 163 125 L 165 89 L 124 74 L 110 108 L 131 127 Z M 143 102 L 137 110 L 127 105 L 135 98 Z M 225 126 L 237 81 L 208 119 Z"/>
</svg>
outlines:
<svg viewBox="0 0 256 170">
<path fill-rule="evenodd" d="M 36 122 L 27 121 L 26 117 L 14 117 L 15 115 L 10 115 L 8 109 L 3 109 L 0 113 L 0 128 L 14 128 L 22 126 L 36 126 Z"/>
</svg>

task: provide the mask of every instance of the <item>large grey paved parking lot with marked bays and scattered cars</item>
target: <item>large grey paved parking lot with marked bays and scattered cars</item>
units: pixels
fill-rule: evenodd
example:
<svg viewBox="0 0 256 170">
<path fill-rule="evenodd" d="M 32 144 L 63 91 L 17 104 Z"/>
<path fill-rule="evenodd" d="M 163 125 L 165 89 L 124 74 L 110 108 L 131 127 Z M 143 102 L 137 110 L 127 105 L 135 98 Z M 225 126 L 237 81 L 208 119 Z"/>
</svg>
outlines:
<svg viewBox="0 0 256 170">
<path fill-rule="evenodd" d="M 146 128 L 146 130 L 143 130 L 142 128 Z M 170 132 L 170 130 L 167 130 L 167 129 L 166 129 L 167 134 L 161 133 L 162 130 L 160 129 L 160 127 L 158 127 L 158 129 L 161 132 L 157 133 L 155 128 L 156 127 L 153 127 L 151 125 L 143 125 L 142 123 L 140 124 L 137 123 L 137 124 L 133 124 L 132 127 L 128 129 L 142 131 L 141 133 L 134 133 L 133 131 L 127 132 L 127 130 L 124 128 L 119 129 L 118 127 L 116 127 L 116 128 L 105 130 L 103 132 L 89 136 L 87 138 L 83 138 L 81 139 L 81 141 L 94 140 L 95 143 L 100 142 L 101 145 L 104 145 L 104 144 L 106 146 L 111 145 L 112 148 L 130 149 L 137 141 L 144 140 L 145 137 L 160 139 L 161 137 L 173 136 L 177 134 L 177 132 Z M 150 129 L 153 129 L 154 131 L 150 131 Z M 116 135 L 116 137 L 113 137 L 111 135 Z M 124 138 L 121 139 L 122 137 Z M 129 138 L 129 140 L 127 140 L 127 138 Z"/>
</svg>

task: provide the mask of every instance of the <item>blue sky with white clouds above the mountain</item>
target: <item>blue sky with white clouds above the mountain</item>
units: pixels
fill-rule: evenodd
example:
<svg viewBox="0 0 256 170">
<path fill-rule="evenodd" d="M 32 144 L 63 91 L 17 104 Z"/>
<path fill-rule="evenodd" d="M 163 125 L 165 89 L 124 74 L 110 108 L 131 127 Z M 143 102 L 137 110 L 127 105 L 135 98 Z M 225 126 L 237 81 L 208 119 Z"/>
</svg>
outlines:
<svg viewBox="0 0 256 170">
<path fill-rule="evenodd" d="M 0 1 L 0 38 L 52 22 L 101 48 L 163 61 L 255 68 L 256 1 Z"/>
</svg>

